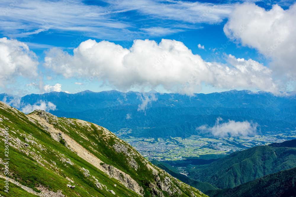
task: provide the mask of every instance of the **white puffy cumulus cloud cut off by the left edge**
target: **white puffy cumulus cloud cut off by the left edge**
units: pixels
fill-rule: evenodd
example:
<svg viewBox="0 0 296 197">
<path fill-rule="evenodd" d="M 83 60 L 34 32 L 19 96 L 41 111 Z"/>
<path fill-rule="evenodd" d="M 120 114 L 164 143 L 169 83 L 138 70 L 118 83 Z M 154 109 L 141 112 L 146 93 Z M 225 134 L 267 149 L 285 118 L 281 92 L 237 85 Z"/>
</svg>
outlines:
<svg viewBox="0 0 296 197">
<path fill-rule="evenodd" d="M 38 60 L 23 42 L 0 38 L 0 86 L 5 87 L 18 76 L 37 76 Z"/>
</svg>

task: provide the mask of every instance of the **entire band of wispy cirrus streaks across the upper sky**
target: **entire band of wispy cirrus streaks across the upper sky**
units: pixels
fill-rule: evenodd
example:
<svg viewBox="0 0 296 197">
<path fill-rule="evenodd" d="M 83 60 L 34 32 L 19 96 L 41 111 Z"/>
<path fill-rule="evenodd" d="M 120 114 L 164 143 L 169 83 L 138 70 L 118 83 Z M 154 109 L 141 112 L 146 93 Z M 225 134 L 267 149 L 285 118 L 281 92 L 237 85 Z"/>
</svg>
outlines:
<svg viewBox="0 0 296 197">
<path fill-rule="evenodd" d="M 216 24 L 233 9 L 232 4 L 215 5 L 187 1 L 106 1 L 91 5 L 83 1 L 16 1 L 0 3 L 1 31 L 14 38 L 40 32 L 79 34 L 107 40 L 133 40 L 145 36 L 163 36 L 200 28 L 198 23 Z M 133 12 L 137 18 L 128 14 Z M 138 19 L 149 22 L 137 25 Z M 175 24 L 182 22 L 183 27 Z M 192 26 L 193 25 L 193 26 Z"/>
</svg>

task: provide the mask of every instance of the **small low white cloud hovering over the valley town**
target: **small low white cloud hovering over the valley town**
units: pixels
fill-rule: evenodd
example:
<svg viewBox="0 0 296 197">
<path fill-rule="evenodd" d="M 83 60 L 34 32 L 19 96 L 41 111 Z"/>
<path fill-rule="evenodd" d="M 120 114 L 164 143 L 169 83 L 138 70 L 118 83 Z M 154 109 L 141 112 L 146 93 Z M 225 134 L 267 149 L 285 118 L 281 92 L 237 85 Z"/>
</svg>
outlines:
<svg viewBox="0 0 296 197">
<path fill-rule="evenodd" d="M 227 137 L 227 136 L 249 136 L 254 135 L 257 131 L 258 124 L 250 123 L 248 121 L 236 122 L 228 120 L 226 123 L 220 123 L 222 118 L 217 118 L 215 126 L 209 127 L 203 125 L 197 127 L 197 130 L 210 132 L 215 137 Z"/>
</svg>

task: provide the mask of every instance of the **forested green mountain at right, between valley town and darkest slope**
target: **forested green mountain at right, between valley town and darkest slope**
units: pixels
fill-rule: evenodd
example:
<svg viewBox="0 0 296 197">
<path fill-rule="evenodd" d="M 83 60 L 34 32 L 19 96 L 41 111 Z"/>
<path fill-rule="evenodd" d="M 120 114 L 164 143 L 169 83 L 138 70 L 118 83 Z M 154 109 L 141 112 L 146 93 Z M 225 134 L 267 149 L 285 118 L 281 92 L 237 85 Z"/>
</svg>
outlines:
<svg viewBox="0 0 296 197">
<path fill-rule="evenodd" d="M 293 167 L 296 167 L 296 148 L 255 146 L 190 169 L 189 177 L 223 189 Z"/>
</svg>

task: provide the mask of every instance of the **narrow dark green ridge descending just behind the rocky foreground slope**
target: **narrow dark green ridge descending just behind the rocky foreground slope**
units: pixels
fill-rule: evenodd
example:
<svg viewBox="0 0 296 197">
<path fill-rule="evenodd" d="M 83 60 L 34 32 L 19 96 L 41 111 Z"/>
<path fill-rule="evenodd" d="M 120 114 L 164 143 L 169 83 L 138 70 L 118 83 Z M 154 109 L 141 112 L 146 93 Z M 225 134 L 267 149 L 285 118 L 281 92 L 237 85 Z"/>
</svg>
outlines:
<svg viewBox="0 0 296 197">
<path fill-rule="evenodd" d="M 152 160 L 151 163 L 153 165 L 165 170 L 170 175 L 172 175 L 173 177 L 181 180 L 182 182 L 184 182 L 184 183 L 186 183 L 188 185 L 191 185 L 194 188 L 197 188 L 201 192 L 218 189 L 218 188 L 214 187 L 213 185 L 211 185 L 210 183 L 200 182 L 200 181 L 191 179 L 191 178 L 187 177 L 186 175 L 182 175 L 174 167 L 172 167 L 172 166 L 170 166 L 170 165 L 168 165 L 168 164 L 166 164 L 164 162 L 160 162 L 160 161 L 157 161 L 157 160 Z"/>
</svg>

